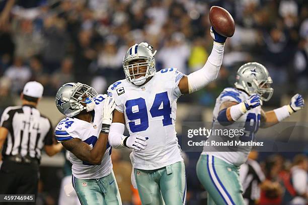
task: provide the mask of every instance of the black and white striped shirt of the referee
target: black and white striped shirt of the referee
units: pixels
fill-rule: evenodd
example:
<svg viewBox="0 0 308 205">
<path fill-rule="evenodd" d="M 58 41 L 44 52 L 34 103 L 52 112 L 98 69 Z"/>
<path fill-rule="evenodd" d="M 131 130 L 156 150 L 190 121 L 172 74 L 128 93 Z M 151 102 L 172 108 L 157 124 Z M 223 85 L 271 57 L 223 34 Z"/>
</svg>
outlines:
<svg viewBox="0 0 308 205">
<path fill-rule="evenodd" d="M 53 130 L 47 117 L 33 106 L 8 107 L 1 117 L 0 127 L 9 130 L 2 155 L 41 158 L 45 145 L 52 145 Z"/>
</svg>

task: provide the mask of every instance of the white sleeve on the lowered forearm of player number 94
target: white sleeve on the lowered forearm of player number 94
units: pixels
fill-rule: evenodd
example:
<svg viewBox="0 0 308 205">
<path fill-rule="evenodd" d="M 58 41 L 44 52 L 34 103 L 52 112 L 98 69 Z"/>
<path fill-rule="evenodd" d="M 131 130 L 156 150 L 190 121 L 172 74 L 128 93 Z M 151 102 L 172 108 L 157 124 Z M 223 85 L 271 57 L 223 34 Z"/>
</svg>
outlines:
<svg viewBox="0 0 308 205">
<path fill-rule="evenodd" d="M 123 135 L 125 125 L 122 123 L 111 123 L 108 134 L 109 144 L 114 148 L 123 148 L 121 145 L 122 139 L 125 138 Z"/>
</svg>

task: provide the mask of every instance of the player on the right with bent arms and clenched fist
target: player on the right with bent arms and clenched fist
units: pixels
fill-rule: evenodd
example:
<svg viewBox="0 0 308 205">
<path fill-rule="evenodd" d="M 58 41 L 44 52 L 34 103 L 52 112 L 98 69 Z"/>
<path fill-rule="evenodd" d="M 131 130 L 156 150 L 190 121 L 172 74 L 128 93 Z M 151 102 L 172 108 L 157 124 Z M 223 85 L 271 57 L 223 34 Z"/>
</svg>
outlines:
<svg viewBox="0 0 308 205">
<path fill-rule="evenodd" d="M 271 83 L 267 69 L 260 63 L 242 65 L 237 72 L 235 88 L 225 88 L 216 99 L 214 128 L 245 129 L 245 135 L 239 140 L 253 141 L 259 126 L 273 126 L 303 108 L 302 96 L 295 94 L 290 105 L 265 113 L 261 109 L 262 100 L 271 98 Z M 226 136 L 210 136 L 208 140 L 212 139 L 230 140 Z M 207 204 L 244 204 L 239 167 L 246 162 L 250 150 L 251 147 L 245 147 L 242 151 L 219 152 L 213 146 L 204 147 L 197 163 L 197 176 L 208 192 Z"/>
</svg>

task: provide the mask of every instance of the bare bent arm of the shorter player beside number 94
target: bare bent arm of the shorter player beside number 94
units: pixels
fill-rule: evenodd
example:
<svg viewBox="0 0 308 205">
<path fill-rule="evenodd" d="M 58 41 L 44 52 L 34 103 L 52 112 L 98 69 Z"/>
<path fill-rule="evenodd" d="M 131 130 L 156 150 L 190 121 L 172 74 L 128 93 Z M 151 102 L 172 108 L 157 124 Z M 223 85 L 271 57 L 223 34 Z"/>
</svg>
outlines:
<svg viewBox="0 0 308 205">
<path fill-rule="evenodd" d="M 62 145 L 66 150 L 73 153 L 80 160 L 100 165 L 106 152 L 107 141 L 108 134 L 101 133 L 92 149 L 90 145 L 78 138 L 64 141 L 62 142 Z"/>
</svg>

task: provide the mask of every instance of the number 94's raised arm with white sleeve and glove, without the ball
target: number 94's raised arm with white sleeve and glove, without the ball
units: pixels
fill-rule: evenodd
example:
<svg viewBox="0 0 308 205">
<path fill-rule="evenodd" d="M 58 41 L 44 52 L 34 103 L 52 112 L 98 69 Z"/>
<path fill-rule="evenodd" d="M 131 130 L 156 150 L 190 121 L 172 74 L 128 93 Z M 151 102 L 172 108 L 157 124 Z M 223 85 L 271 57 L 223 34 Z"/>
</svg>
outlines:
<svg viewBox="0 0 308 205">
<path fill-rule="evenodd" d="M 223 47 L 226 37 L 219 35 L 212 29 L 211 36 L 214 39 L 212 52 L 200 70 L 182 77 L 178 85 L 182 94 L 200 90 L 217 78 L 222 63 Z"/>
</svg>

